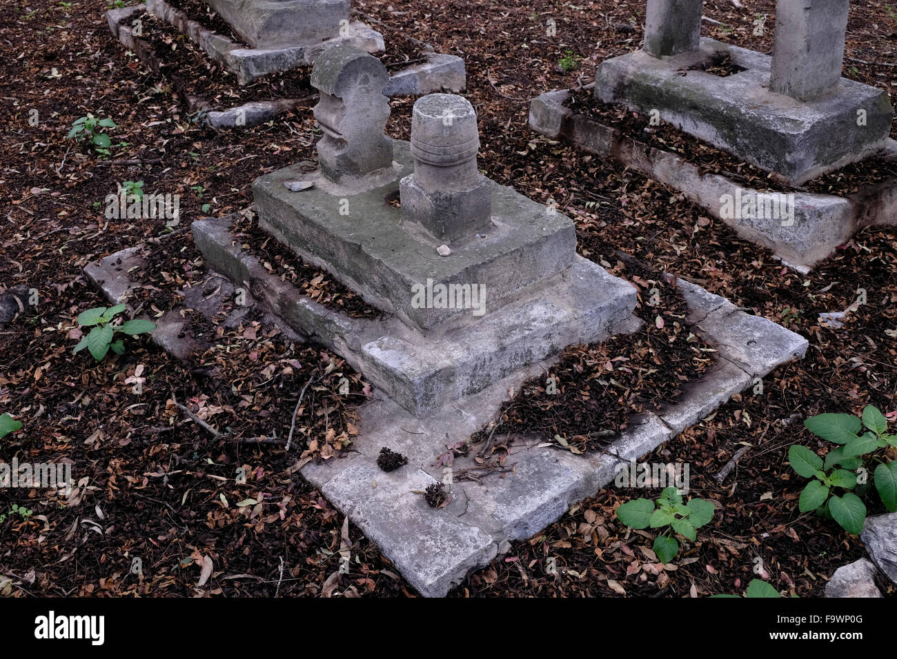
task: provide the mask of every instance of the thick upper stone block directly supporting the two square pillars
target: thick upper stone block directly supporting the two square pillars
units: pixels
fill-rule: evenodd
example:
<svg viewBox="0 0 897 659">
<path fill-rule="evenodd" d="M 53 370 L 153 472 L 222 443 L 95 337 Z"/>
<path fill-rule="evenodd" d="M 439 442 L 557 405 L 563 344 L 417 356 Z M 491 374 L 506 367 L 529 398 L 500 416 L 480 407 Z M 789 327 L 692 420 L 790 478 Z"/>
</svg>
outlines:
<svg viewBox="0 0 897 659">
<path fill-rule="evenodd" d="M 726 56 L 744 70 L 701 70 Z M 769 90 L 770 72 L 770 56 L 701 39 L 699 50 L 672 57 L 639 50 L 606 59 L 595 95 L 645 114 L 657 110 L 662 121 L 792 185 L 880 150 L 893 119 L 886 91 L 841 78 L 834 93 L 798 101 Z"/>
</svg>

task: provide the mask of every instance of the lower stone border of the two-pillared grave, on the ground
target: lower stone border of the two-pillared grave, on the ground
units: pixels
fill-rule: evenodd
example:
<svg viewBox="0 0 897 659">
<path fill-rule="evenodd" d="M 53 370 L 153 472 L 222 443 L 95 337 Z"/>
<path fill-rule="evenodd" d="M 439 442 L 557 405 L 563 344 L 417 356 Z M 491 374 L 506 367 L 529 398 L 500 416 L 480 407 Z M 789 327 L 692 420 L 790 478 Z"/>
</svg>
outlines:
<svg viewBox="0 0 897 659">
<path fill-rule="evenodd" d="M 729 217 L 722 200 L 762 200 L 762 191 L 737 184 L 719 174 L 704 173 L 700 166 L 678 154 L 666 152 L 622 134 L 591 117 L 573 114 L 564 107 L 570 91 L 548 91 L 530 105 L 529 126 L 552 139 L 567 139 L 585 151 L 613 158 L 624 165 L 682 192 L 694 203 L 724 221 L 736 233 L 768 247 L 786 264 L 806 273 L 867 226 L 897 225 L 897 179 L 864 186 L 845 196 L 793 193 L 794 217 L 775 213 L 762 217 Z M 882 157 L 897 160 L 897 142 L 884 143 Z"/>
</svg>

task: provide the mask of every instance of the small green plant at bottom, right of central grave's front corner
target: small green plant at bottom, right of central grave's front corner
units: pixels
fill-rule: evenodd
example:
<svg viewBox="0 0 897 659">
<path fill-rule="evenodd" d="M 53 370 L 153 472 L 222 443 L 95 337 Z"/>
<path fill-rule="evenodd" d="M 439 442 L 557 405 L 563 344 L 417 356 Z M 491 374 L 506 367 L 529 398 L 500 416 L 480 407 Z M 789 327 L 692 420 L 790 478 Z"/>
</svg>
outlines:
<svg viewBox="0 0 897 659">
<path fill-rule="evenodd" d="M 666 488 L 657 501 L 633 499 L 616 509 L 617 518 L 633 529 L 662 529 L 654 540 L 654 553 L 661 563 L 669 563 L 679 553 L 679 542 L 675 533 L 694 542 L 696 529 L 713 519 L 716 508 L 706 499 L 690 499 L 684 504 L 682 492 L 677 488 Z"/>
</svg>

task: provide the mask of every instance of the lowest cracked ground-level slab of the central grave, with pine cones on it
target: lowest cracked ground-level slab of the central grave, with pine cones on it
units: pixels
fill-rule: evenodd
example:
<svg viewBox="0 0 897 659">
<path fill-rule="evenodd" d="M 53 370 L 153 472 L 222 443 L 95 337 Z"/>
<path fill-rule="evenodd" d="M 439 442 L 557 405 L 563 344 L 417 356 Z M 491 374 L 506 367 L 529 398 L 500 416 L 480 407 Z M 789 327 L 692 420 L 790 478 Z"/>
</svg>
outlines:
<svg viewBox="0 0 897 659">
<path fill-rule="evenodd" d="M 134 255 L 126 250 L 124 256 Z M 112 255 L 106 262 L 114 264 L 122 257 L 121 253 Z M 132 275 L 128 269 L 116 272 L 123 274 L 97 277 L 100 288 L 113 301 L 118 301 L 122 290 L 139 285 L 122 281 Z M 689 302 L 690 317 L 699 323 L 710 319 L 704 331 L 718 344 L 717 364 L 701 382 L 687 388 L 672 408 L 631 420 L 631 428 L 604 452 L 573 455 L 544 446 L 544 438 L 518 437 L 506 461 L 507 466 L 513 465 L 512 473 L 485 475 L 480 482 L 459 481 L 456 477 L 450 486 L 448 506 L 434 509 L 425 503 L 422 490 L 446 478 L 444 467 L 438 465 L 446 445 L 465 441 L 493 421 L 510 391 L 517 391 L 525 380 L 542 376 L 551 367 L 552 361 L 545 360 L 475 395 L 459 396 L 422 418 L 375 392 L 374 401 L 357 410 L 360 433 L 354 438 L 353 452 L 343 458 L 305 464 L 301 474 L 376 542 L 422 595 L 447 594 L 470 571 L 508 551 L 510 542 L 531 537 L 553 523 L 572 504 L 594 496 L 613 481 L 618 469 L 649 454 L 684 425 L 701 421 L 719 404 L 750 386 L 752 376 L 762 377 L 779 364 L 803 357 L 807 343 L 797 334 L 771 321 L 733 311 L 725 299 L 693 284 L 679 280 L 678 285 Z M 266 312 L 268 304 L 280 300 L 281 304 L 306 308 L 308 314 L 320 313 L 309 307 L 320 307 L 310 299 L 283 299 L 279 290 L 270 293 L 259 299 L 248 296 L 248 300 Z M 615 329 L 634 331 L 639 324 L 633 319 L 630 316 Z M 721 319 L 726 322 L 717 322 Z M 330 322 L 337 321 L 331 317 Z M 321 328 L 332 326 L 323 319 L 320 323 Z M 290 328 L 282 319 L 278 325 Z M 738 329 L 745 326 L 753 331 Z M 732 332 L 728 331 L 730 327 L 734 328 Z M 754 331 L 771 337 L 770 346 L 762 353 L 752 350 Z M 754 359 L 755 355 L 760 359 Z M 393 473 L 380 471 L 376 460 L 384 446 L 407 455 L 409 464 Z M 475 466 L 474 458 L 473 451 L 456 458 L 453 473 L 462 474 Z"/>
</svg>

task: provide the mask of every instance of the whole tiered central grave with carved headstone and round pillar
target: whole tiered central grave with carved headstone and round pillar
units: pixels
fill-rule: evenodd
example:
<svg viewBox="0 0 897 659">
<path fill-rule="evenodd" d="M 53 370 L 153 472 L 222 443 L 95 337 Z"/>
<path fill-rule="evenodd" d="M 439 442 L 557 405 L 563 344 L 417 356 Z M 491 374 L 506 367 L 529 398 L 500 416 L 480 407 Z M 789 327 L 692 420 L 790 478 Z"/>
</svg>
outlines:
<svg viewBox="0 0 897 659">
<path fill-rule="evenodd" d="M 570 218 L 479 172 L 476 115 L 464 98 L 424 96 L 414 104 L 410 143 L 384 135 L 387 80 L 379 60 L 357 48 L 327 50 L 311 75 L 321 92 L 318 162 L 253 186 L 260 229 L 382 316 L 351 317 L 304 296 L 242 247 L 231 217 L 196 221 L 193 234 L 205 263 L 250 303 L 338 352 L 375 386 L 358 408 L 352 450 L 303 464 L 301 474 L 421 594 L 438 596 L 594 495 L 621 465 L 802 356 L 806 341 L 680 280 L 692 308 L 687 322 L 700 324 L 718 351 L 718 368 L 680 405 L 633 421 L 600 453 L 518 437 L 507 473 L 452 481 L 440 454 L 483 428 L 527 378 L 544 377 L 553 354 L 640 327 L 631 315 L 636 291 L 577 255 Z M 91 265 L 94 281 L 121 270 L 116 258 Z M 381 471 L 381 447 L 407 464 Z M 475 456 L 457 457 L 454 468 L 476 470 Z M 422 496 L 437 481 L 450 490 L 445 507 Z"/>
</svg>

